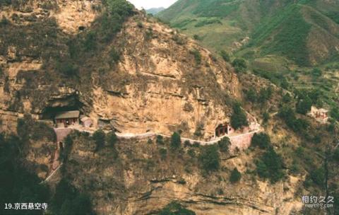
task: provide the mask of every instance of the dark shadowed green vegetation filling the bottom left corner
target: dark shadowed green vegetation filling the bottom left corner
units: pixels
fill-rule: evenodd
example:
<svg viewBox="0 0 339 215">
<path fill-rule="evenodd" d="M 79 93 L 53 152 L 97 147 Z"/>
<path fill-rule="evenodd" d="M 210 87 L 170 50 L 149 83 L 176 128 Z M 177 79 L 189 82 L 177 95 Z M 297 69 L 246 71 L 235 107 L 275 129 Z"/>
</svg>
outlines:
<svg viewBox="0 0 339 215">
<path fill-rule="evenodd" d="M 0 134 L 0 214 L 9 213 L 4 209 L 5 203 L 49 202 L 49 187 L 40 184 L 40 178 L 30 173 L 23 163 L 26 144 L 18 136 Z M 43 211 L 21 214 L 43 214 Z"/>
</svg>

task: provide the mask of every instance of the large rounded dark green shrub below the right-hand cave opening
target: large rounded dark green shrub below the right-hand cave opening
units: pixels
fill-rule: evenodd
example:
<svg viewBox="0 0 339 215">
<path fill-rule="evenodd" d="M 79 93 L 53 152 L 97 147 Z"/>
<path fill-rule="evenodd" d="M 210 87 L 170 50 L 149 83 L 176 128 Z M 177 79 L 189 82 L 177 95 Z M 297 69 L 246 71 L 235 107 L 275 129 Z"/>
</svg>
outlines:
<svg viewBox="0 0 339 215">
<path fill-rule="evenodd" d="M 220 155 L 215 145 L 203 146 L 199 154 L 199 161 L 206 171 L 215 171 L 220 168 Z"/>
</svg>

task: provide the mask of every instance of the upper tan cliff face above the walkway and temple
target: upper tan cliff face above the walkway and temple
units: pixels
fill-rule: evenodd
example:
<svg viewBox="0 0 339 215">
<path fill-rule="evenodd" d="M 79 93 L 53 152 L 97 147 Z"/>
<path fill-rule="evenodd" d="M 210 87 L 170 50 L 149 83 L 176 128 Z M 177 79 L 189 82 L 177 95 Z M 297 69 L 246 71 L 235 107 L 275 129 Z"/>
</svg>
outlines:
<svg viewBox="0 0 339 215">
<path fill-rule="evenodd" d="M 50 26 L 40 25 L 45 32 L 38 35 L 47 37 L 42 39 L 44 43 L 3 38 L 1 110 L 4 112 L 29 112 L 46 117 L 53 108 L 77 108 L 93 117 L 97 124 L 105 122 L 119 132 L 171 134 L 182 129 L 190 136 L 203 124 L 205 137 L 213 136 L 215 127 L 228 120 L 227 99 L 239 97 L 237 76 L 208 50 L 137 13 L 124 23 L 112 42 L 97 48 L 94 54 L 86 56 L 83 64 L 76 65 L 78 79 L 67 77 L 56 71 L 57 66 L 51 66 L 52 55 L 62 58 L 69 54 L 67 42 L 73 35 L 87 34 L 78 27 L 95 29 L 89 26 L 100 5 L 95 1 L 62 1 L 51 3 L 54 8 L 48 10 L 42 9 L 39 1 L 33 2 L 25 8 L 35 9 L 24 10 L 21 6 L 15 11 L 11 6 L 4 7 L 0 14 L 10 22 L 2 26 L 8 29 L 8 34 L 23 28 L 27 31 L 21 33 L 28 34 L 32 40 L 39 40 L 32 32 L 37 25 L 56 21 Z M 13 21 L 16 17 L 13 14 L 20 19 Z M 25 16 L 37 19 L 22 21 Z M 51 53 L 49 49 L 54 45 L 58 46 L 57 50 Z M 107 65 L 112 50 L 120 54 L 115 66 Z"/>
</svg>

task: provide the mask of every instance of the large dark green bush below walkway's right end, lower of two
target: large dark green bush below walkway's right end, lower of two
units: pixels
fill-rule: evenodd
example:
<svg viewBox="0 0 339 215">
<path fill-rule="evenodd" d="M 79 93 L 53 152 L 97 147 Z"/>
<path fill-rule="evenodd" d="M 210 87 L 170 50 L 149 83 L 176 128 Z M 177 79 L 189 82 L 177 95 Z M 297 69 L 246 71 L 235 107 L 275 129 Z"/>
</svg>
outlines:
<svg viewBox="0 0 339 215">
<path fill-rule="evenodd" d="M 256 161 L 256 172 L 261 178 L 269 179 L 271 183 L 278 182 L 285 176 L 283 158 L 270 147 L 261 159 Z"/>
</svg>

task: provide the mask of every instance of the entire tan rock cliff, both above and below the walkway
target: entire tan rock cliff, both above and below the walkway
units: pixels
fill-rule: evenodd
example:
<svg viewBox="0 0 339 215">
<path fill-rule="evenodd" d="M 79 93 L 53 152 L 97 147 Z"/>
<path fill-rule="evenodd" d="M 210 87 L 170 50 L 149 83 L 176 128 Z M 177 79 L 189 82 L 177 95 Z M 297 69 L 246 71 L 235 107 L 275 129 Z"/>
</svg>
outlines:
<svg viewBox="0 0 339 215">
<path fill-rule="evenodd" d="M 229 65 L 143 13 L 134 11 L 117 35 L 101 40 L 95 32 L 102 30 L 105 8 L 97 1 L 24 2 L 0 5 L 0 132 L 15 132 L 25 113 L 51 122 L 60 110 L 78 109 L 95 127 L 182 130 L 189 137 L 203 125 L 208 138 L 228 121 L 231 101 L 241 99 Z M 53 152 L 45 145 L 52 141 L 32 142 L 28 161 L 48 165 Z M 164 146 L 152 141 L 121 141 L 117 151 L 93 153 L 93 139 L 75 136 L 66 174 L 90 193 L 98 214 L 154 214 L 172 201 L 197 214 L 287 215 L 300 207 L 294 197 L 299 179 L 256 182 L 245 173 L 245 166 L 254 169 L 246 153 L 223 154 L 222 170 L 202 176 L 189 149 L 170 151 L 168 140 Z M 162 148 L 168 148 L 165 158 Z M 231 185 L 235 166 L 243 179 Z M 46 171 L 38 171 L 41 178 Z"/>
</svg>

